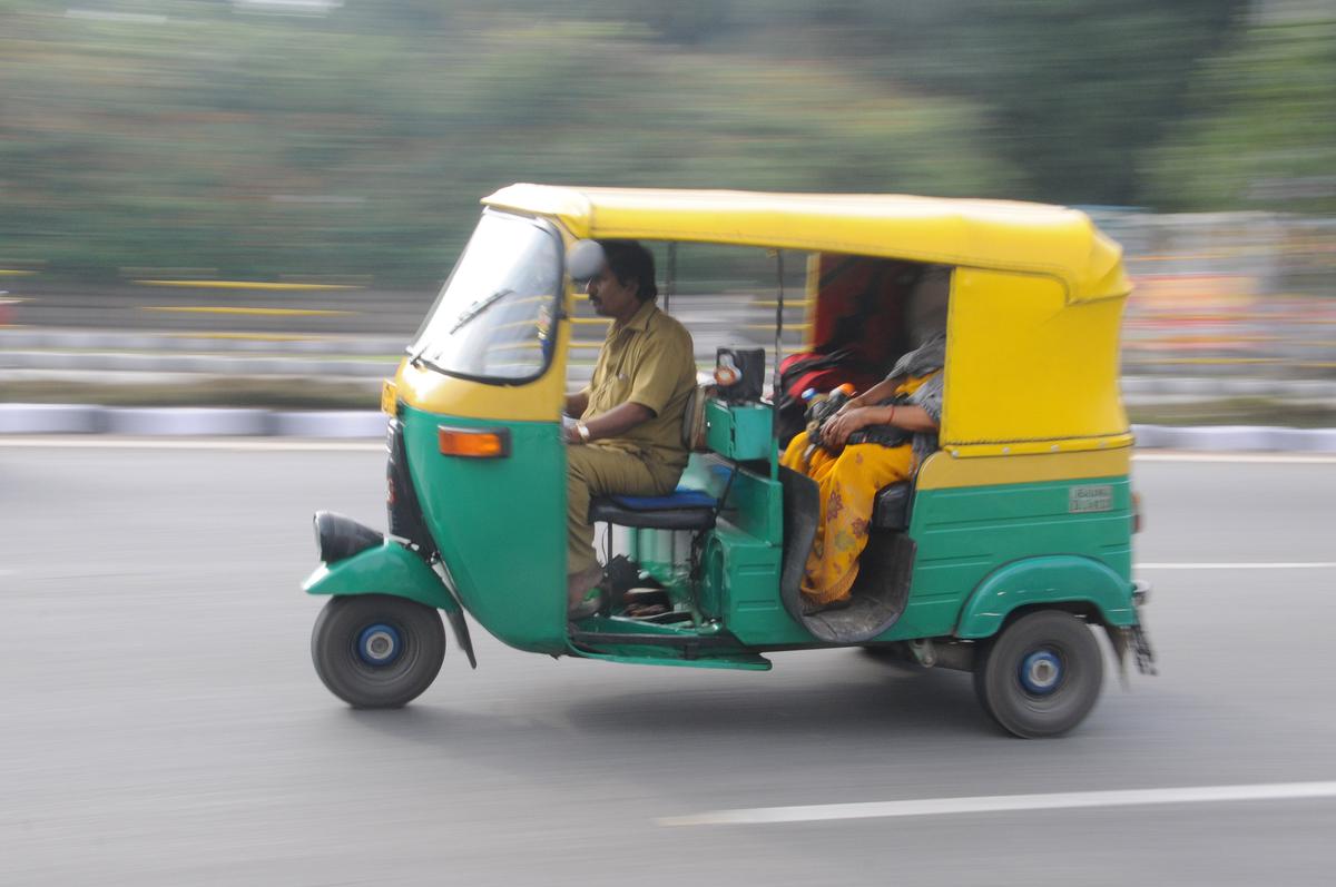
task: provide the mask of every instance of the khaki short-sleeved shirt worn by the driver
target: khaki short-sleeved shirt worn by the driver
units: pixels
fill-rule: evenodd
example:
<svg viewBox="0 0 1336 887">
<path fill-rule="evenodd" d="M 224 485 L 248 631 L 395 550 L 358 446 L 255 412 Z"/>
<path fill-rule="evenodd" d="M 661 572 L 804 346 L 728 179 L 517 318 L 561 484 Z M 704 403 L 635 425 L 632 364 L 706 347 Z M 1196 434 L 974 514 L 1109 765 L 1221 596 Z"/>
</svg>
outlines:
<svg viewBox="0 0 1336 887">
<path fill-rule="evenodd" d="M 680 472 L 687 465 L 683 413 L 695 387 L 691 333 L 649 301 L 625 325 L 613 323 L 608 329 L 593 378 L 585 387 L 589 406 L 580 418 L 592 419 L 623 403 L 649 407 L 653 418 L 597 445 L 633 453 L 651 468 Z"/>
</svg>

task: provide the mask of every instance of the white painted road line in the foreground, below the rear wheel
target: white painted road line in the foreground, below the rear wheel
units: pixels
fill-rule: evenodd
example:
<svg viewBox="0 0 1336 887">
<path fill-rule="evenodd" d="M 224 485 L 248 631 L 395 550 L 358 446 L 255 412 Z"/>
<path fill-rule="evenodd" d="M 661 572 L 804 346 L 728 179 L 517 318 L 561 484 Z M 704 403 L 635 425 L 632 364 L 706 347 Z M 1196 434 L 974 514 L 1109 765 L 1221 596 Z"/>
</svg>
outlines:
<svg viewBox="0 0 1336 887">
<path fill-rule="evenodd" d="M 987 795 L 982 797 L 923 797 L 919 800 L 859 804 L 754 807 L 749 810 L 717 810 L 692 816 L 664 816 L 657 822 L 660 826 L 770 826 L 775 823 L 818 823 L 836 819 L 950 816 L 955 814 L 1005 814 L 1026 810 L 1141 807 L 1150 804 L 1221 804 L 1248 800 L 1299 800 L 1312 797 L 1336 797 L 1336 781 L 1133 788 L 1125 791 L 1062 792 L 1053 795 Z"/>
</svg>

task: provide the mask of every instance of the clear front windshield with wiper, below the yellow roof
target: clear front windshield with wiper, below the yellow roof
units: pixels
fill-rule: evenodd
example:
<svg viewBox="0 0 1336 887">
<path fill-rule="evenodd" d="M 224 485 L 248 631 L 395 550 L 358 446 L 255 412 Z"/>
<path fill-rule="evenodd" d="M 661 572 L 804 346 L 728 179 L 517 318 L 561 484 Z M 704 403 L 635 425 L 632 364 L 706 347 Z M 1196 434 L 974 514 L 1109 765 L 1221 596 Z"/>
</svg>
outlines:
<svg viewBox="0 0 1336 887">
<path fill-rule="evenodd" d="M 552 357 L 560 290 L 557 234 L 533 219 L 489 211 L 409 354 L 453 375 L 536 378 Z"/>
</svg>

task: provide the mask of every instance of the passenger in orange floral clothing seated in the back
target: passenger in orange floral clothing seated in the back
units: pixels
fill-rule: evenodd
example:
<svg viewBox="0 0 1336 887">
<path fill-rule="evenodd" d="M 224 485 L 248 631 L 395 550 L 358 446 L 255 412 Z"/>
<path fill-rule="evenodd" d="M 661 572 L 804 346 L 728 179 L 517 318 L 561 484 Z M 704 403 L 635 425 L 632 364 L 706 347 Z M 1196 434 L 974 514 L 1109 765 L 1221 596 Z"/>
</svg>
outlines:
<svg viewBox="0 0 1336 887">
<path fill-rule="evenodd" d="M 803 431 L 784 452 L 783 465 L 820 486 L 820 518 L 802 581 L 807 612 L 847 604 L 858 578 L 858 558 L 867 546 L 876 492 L 912 477 L 937 449 L 945 357 L 946 334 L 935 333 L 904 354 L 886 379 L 831 417 L 820 430 L 819 446 L 811 446 L 814 441 Z M 907 395 L 907 402 L 882 405 L 898 395 Z M 850 434 L 870 425 L 892 425 L 914 437 L 902 446 L 846 446 Z"/>
</svg>

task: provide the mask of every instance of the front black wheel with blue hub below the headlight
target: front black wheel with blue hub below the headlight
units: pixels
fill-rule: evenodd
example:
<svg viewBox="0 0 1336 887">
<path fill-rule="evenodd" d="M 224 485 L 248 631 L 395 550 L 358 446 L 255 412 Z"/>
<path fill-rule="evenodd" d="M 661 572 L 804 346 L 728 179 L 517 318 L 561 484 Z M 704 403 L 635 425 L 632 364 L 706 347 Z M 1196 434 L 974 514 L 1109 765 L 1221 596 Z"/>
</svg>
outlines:
<svg viewBox="0 0 1336 887">
<path fill-rule="evenodd" d="M 432 685 L 445 628 L 430 606 L 389 594 L 334 597 L 311 631 L 315 673 L 353 708 L 398 708 Z"/>
</svg>

